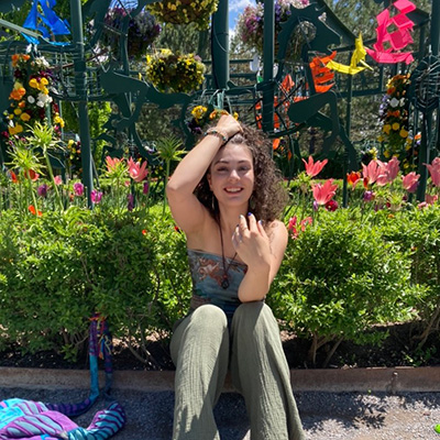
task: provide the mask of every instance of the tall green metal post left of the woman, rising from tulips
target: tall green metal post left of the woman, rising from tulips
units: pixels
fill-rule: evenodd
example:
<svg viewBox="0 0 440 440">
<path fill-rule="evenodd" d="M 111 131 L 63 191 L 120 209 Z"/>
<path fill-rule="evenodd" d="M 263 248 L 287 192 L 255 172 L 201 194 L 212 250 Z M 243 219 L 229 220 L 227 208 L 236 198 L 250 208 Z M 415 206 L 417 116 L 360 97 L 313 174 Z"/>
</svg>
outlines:
<svg viewBox="0 0 440 440">
<path fill-rule="evenodd" d="M 79 97 L 78 116 L 79 139 L 81 141 L 82 184 L 87 188 L 88 206 L 89 208 L 92 208 L 94 204 L 91 201 L 90 194 L 94 189 L 94 175 L 91 166 L 90 124 L 87 109 L 86 62 L 84 53 L 82 11 L 80 0 L 70 0 L 70 15 L 72 36 L 76 46 L 74 69 L 75 89 L 77 96 Z"/>
</svg>

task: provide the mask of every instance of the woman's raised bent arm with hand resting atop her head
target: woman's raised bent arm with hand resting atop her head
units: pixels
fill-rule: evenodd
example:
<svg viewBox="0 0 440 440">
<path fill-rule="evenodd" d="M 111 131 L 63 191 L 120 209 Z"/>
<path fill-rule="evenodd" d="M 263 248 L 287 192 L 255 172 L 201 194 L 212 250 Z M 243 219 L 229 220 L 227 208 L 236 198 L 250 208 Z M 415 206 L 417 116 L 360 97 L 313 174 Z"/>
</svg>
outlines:
<svg viewBox="0 0 440 440">
<path fill-rule="evenodd" d="M 230 139 L 241 131 L 241 125 L 230 114 L 222 116 L 216 125 L 218 135 L 205 136 L 178 164 L 166 186 L 166 195 L 173 217 L 186 233 L 197 231 L 207 211 L 194 195 L 219 148 L 222 136 Z"/>
</svg>

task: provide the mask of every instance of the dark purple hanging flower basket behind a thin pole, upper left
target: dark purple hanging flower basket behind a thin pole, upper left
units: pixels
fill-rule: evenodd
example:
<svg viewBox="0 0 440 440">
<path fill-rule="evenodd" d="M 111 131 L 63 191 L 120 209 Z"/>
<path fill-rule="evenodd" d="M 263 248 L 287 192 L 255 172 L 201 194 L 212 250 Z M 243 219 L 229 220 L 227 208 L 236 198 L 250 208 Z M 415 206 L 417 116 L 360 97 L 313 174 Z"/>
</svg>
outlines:
<svg viewBox="0 0 440 440">
<path fill-rule="evenodd" d="M 123 19 L 131 13 L 124 8 L 111 8 L 105 18 L 105 31 L 102 32 L 101 43 L 110 48 L 114 57 L 118 58 L 120 52 L 120 31 L 122 30 Z M 128 55 L 129 58 L 141 58 L 151 47 L 153 42 L 161 33 L 161 26 L 156 19 L 145 9 L 139 14 L 131 16 L 128 29 Z"/>
</svg>

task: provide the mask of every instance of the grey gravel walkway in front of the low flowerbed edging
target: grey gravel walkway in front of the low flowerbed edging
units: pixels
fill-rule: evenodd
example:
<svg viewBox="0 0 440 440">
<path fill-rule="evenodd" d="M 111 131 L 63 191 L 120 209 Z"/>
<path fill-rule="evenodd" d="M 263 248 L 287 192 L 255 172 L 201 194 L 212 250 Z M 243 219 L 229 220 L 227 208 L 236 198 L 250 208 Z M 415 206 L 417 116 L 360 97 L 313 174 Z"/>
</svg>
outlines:
<svg viewBox="0 0 440 440">
<path fill-rule="evenodd" d="M 116 389 L 114 399 L 128 415 L 124 429 L 116 440 L 170 440 L 174 394 Z M 41 402 L 80 402 L 81 389 L 41 389 L 3 387 L 0 399 L 21 397 Z M 440 393 L 296 393 L 308 440 L 440 440 L 433 431 L 440 422 Z M 103 399 L 75 421 L 87 427 L 96 410 L 107 406 Z M 216 407 L 221 440 L 250 440 L 249 421 L 241 396 L 223 393 Z M 207 439 L 200 439 L 207 440 Z"/>
</svg>

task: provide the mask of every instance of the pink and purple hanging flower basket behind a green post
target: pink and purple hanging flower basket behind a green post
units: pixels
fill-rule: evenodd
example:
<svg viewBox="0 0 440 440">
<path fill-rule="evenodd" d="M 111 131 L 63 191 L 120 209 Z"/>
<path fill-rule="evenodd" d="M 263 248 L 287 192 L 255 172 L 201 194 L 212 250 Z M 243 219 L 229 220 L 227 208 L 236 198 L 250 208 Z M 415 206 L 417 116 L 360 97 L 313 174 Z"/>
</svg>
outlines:
<svg viewBox="0 0 440 440">
<path fill-rule="evenodd" d="M 292 15 L 290 7 L 302 9 L 309 4 L 309 0 L 275 0 L 275 56 L 278 51 L 277 37 L 285 23 Z M 292 46 L 287 58 L 294 61 L 299 58 L 300 48 L 305 35 L 309 36 L 311 25 L 307 22 L 297 26 L 292 35 Z M 244 50 L 256 52 L 263 56 L 264 34 L 264 2 L 248 6 L 237 22 L 237 36 Z M 311 40 L 311 37 L 310 37 Z"/>
</svg>

